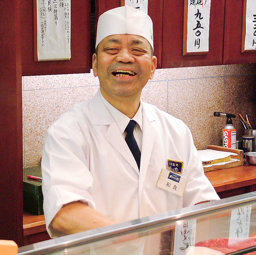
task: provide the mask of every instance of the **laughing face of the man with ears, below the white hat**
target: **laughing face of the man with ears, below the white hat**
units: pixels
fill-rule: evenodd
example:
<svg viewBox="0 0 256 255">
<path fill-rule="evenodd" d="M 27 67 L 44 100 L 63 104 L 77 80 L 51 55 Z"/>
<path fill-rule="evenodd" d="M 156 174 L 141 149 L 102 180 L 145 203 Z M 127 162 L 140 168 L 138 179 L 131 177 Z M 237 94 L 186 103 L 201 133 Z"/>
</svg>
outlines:
<svg viewBox="0 0 256 255">
<path fill-rule="evenodd" d="M 150 44 L 141 36 L 111 35 L 99 43 L 92 67 L 107 100 L 138 98 L 154 76 L 156 57 L 151 57 Z"/>
</svg>

